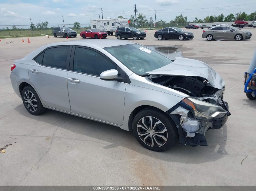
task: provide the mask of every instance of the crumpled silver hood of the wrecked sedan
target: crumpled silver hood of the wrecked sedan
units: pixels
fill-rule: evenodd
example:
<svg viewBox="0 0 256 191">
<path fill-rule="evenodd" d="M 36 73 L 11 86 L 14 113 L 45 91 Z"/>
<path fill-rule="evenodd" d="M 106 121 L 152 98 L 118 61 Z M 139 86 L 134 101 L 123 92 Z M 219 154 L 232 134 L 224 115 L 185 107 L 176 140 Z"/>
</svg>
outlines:
<svg viewBox="0 0 256 191">
<path fill-rule="evenodd" d="M 225 82 L 218 72 L 206 63 L 188 58 L 175 58 L 174 62 L 147 73 L 175 76 L 200 76 L 207 79 L 214 88 L 222 89 L 225 86 Z"/>
</svg>

